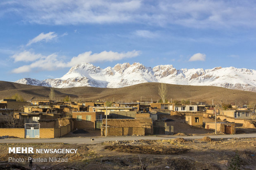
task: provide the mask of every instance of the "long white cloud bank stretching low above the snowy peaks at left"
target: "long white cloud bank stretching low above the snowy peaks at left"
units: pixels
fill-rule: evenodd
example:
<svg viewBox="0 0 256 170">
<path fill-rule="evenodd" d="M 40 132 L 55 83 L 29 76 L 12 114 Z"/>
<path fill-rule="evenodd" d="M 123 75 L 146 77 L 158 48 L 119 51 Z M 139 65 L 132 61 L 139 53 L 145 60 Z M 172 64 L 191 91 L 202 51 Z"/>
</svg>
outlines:
<svg viewBox="0 0 256 170">
<path fill-rule="evenodd" d="M 40 70 L 57 70 L 59 68 L 72 67 L 78 63 L 94 63 L 94 62 L 102 62 L 102 61 L 115 61 L 121 60 L 123 58 L 131 58 L 140 55 L 140 51 L 128 51 L 126 53 L 118 53 L 113 51 L 102 51 L 101 53 L 92 54 L 92 51 L 88 51 L 82 54 L 79 54 L 76 57 L 73 57 L 69 62 L 65 62 L 62 60 L 63 57 L 58 56 L 56 53 L 51 54 L 49 56 L 43 56 L 41 54 L 32 54 L 28 51 L 21 52 L 14 58 L 14 61 L 24 61 L 23 59 L 29 58 L 28 56 L 35 56 L 30 65 L 23 65 L 19 68 L 15 68 L 12 70 L 12 73 L 22 73 L 22 72 L 31 72 L 31 71 L 40 71 Z M 22 57 L 21 57 L 22 56 Z"/>
</svg>

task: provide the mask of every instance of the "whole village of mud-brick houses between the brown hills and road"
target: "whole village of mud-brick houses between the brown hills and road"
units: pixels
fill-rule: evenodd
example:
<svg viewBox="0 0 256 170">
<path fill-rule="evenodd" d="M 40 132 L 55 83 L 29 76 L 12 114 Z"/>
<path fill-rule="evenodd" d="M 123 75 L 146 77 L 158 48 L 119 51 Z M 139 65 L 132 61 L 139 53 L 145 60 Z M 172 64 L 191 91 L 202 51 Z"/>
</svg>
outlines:
<svg viewBox="0 0 256 170">
<path fill-rule="evenodd" d="M 256 108 L 205 102 L 0 100 L 1 138 L 255 133 Z M 107 119 L 106 119 L 107 118 Z M 107 129 L 107 130 L 106 130 Z M 89 133 L 88 133 L 89 132 Z M 87 133 L 87 134 L 86 134 Z"/>
</svg>

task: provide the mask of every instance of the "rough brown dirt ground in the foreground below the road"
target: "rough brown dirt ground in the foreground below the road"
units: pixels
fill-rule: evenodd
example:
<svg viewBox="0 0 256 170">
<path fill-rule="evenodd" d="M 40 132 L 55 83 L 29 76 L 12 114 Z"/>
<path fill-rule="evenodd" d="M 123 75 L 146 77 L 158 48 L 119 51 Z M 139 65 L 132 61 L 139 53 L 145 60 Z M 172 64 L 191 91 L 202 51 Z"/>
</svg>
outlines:
<svg viewBox="0 0 256 170">
<path fill-rule="evenodd" d="M 53 149 L 78 149 L 76 154 L 9 154 L 8 147 L 33 147 Z M 132 140 L 98 144 L 0 144 L 0 161 L 9 157 L 68 158 L 68 162 L 34 162 L 34 169 L 73 170 L 225 170 L 237 165 L 242 170 L 256 169 L 256 138 L 198 140 Z M 0 162 L 1 167 L 28 162 Z"/>
</svg>

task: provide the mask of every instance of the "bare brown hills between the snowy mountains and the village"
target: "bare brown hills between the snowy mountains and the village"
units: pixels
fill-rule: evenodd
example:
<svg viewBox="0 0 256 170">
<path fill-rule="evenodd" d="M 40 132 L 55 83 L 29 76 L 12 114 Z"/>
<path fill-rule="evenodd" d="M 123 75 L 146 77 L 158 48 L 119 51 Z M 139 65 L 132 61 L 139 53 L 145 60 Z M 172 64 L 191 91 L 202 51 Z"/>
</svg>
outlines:
<svg viewBox="0 0 256 170">
<path fill-rule="evenodd" d="M 230 90 L 215 86 L 185 86 L 166 84 L 168 87 L 168 100 L 191 100 L 192 102 L 205 101 L 211 104 L 214 99 L 215 104 L 229 102 L 232 104 L 247 104 L 256 102 L 256 93 L 249 91 Z M 123 88 L 96 88 L 96 87 L 73 87 L 54 88 L 55 97 L 61 100 L 66 95 L 70 95 L 72 100 L 109 100 L 131 102 L 132 100 L 156 101 L 160 99 L 158 95 L 159 83 L 143 83 Z M 0 81 L 0 99 L 10 98 L 15 93 L 19 93 L 25 100 L 47 99 L 50 93 L 49 87 L 31 86 L 17 84 L 13 82 Z"/>
</svg>

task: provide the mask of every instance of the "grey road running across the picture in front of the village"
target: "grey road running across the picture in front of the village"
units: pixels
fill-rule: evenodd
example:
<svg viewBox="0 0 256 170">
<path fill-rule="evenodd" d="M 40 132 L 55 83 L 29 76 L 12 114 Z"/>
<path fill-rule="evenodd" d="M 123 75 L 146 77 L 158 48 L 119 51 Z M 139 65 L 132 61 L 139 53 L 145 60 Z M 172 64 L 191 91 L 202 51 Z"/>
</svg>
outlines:
<svg viewBox="0 0 256 170">
<path fill-rule="evenodd" d="M 237 134 L 237 135 L 208 135 L 211 138 L 247 138 L 247 137 L 256 137 L 256 133 L 249 134 Z M 67 143 L 67 144 L 92 144 L 100 143 L 105 141 L 125 141 L 125 140 L 169 140 L 182 137 L 184 139 L 201 139 L 205 135 L 197 136 L 175 136 L 175 135 L 159 135 L 159 136 L 110 136 L 110 137 L 64 137 L 64 138 L 55 138 L 55 139 L 1 139 L 0 143 Z M 94 142 L 90 140 L 94 138 Z"/>
</svg>

